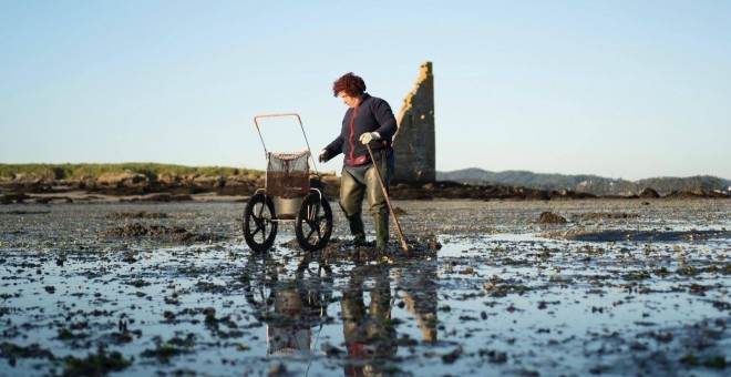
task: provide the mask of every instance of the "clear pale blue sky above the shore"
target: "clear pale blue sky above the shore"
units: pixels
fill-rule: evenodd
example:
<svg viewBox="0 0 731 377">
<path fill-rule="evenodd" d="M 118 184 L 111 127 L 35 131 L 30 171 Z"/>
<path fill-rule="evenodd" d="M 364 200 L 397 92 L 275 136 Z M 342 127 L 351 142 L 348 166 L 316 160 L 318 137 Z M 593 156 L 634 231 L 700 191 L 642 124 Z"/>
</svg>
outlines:
<svg viewBox="0 0 731 377">
<path fill-rule="evenodd" d="M 432 61 L 440 171 L 731 179 L 729 1 L 0 0 L 0 163 L 264 169 Z"/>
</svg>

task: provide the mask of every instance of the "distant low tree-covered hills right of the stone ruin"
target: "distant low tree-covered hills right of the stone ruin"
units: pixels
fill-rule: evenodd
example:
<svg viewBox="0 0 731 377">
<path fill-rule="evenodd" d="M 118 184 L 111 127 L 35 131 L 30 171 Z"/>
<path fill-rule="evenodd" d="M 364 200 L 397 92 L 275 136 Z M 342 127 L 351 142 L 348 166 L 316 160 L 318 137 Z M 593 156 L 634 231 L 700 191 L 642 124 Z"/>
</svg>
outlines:
<svg viewBox="0 0 731 377">
<path fill-rule="evenodd" d="M 703 187 L 731 193 L 731 181 L 710 175 L 689 177 L 653 177 L 639 181 L 614 180 L 598 175 L 540 174 L 527 171 L 491 172 L 478 167 L 452 172 L 436 172 L 437 181 L 507 186 L 525 186 L 539 190 L 575 190 L 594 195 L 632 195 L 650 187 L 665 195 L 672 191 Z"/>
</svg>

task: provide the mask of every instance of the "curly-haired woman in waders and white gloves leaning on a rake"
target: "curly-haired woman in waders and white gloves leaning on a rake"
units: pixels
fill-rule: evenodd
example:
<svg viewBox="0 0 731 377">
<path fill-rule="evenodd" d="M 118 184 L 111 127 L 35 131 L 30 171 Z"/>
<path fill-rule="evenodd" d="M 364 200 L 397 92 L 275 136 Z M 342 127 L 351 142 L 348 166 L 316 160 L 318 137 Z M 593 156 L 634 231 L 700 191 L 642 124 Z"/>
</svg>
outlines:
<svg viewBox="0 0 731 377">
<path fill-rule="evenodd" d="M 342 119 L 340 135 L 322 152 L 320 162 L 344 154 L 340 181 L 340 207 L 350 224 L 356 246 L 366 244 L 366 231 L 361 217 L 363 196 L 375 224 L 375 247 L 384 251 L 389 243 L 389 206 L 381 191 L 378 173 L 388 191 L 393 176 L 393 135 L 397 122 L 388 102 L 366 93 L 366 82 L 352 72 L 346 73 L 332 84 L 334 96 L 348 106 Z M 371 161 L 366 145 L 371 147 L 375 161 Z"/>
</svg>

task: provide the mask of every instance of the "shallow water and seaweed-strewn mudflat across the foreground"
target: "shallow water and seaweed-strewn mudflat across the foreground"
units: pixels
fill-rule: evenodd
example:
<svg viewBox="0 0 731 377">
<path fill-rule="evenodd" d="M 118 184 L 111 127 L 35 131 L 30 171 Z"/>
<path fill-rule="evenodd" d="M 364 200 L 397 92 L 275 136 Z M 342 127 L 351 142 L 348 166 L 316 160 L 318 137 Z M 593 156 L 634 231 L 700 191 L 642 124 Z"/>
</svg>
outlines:
<svg viewBox="0 0 731 377">
<path fill-rule="evenodd" d="M 307 257 L 284 225 L 253 255 L 243 203 L 0 207 L 0 374 L 725 374 L 731 201 L 393 204 L 441 249 Z M 107 218 L 140 211 L 167 216 Z M 215 237 L 110 235 L 132 223 Z"/>
</svg>

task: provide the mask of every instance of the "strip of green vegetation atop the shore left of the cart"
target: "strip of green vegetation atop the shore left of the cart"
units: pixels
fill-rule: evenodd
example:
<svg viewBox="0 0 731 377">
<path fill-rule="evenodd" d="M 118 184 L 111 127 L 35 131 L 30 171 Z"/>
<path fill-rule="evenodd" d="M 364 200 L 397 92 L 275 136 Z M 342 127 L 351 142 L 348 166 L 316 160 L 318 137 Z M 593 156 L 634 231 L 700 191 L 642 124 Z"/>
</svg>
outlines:
<svg viewBox="0 0 731 377">
<path fill-rule="evenodd" d="M 16 179 L 33 176 L 43 180 L 80 180 L 97 177 L 106 173 L 143 174 L 156 177 L 158 174 L 169 175 L 206 175 L 233 176 L 264 174 L 261 171 L 225 167 L 225 166 L 183 166 L 156 163 L 123 163 L 123 164 L 0 164 L 0 177 Z"/>
</svg>

